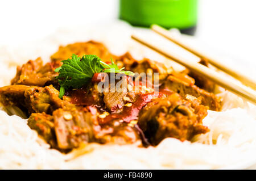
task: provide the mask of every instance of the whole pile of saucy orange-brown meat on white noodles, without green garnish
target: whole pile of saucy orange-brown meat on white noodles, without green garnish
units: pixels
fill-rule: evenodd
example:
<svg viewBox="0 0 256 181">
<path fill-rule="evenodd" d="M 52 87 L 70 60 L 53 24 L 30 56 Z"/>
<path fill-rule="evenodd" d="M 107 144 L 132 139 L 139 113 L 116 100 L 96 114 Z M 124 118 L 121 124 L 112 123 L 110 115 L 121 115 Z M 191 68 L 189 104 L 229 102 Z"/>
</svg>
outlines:
<svg viewBox="0 0 256 181">
<path fill-rule="evenodd" d="M 100 92 L 94 74 L 92 82 L 79 89 L 69 87 L 62 99 L 54 70 L 75 53 L 96 54 L 105 62 L 117 60 L 119 68 L 137 73 L 159 73 L 159 92 L 131 77 L 114 82 L 117 90 Z M 51 145 L 67 152 L 81 144 L 133 144 L 139 140 L 158 145 L 166 137 L 191 140 L 196 134 L 208 132 L 202 120 L 207 109 L 218 111 L 220 101 L 213 94 L 214 85 L 199 75 L 177 73 L 163 64 L 144 59 L 135 60 L 129 53 L 114 56 L 101 43 L 88 41 L 60 47 L 43 65 L 40 58 L 17 68 L 11 86 L 0 88 L 0 101 L 6 107 L 18 107 L 27 113 L 28 125 Z M 109 81 L 109 80 L 108 80 Z M 148 81 L 148 80 L 147 80 Z M 202 89 L 200 89 L 200 86 Z M 110 81 L 106 87 L 111 91 Z M 139 91 L 138 91 L 139 90 Z M 138 123 L 137 123 L 138 122 Z"/>
</svg>

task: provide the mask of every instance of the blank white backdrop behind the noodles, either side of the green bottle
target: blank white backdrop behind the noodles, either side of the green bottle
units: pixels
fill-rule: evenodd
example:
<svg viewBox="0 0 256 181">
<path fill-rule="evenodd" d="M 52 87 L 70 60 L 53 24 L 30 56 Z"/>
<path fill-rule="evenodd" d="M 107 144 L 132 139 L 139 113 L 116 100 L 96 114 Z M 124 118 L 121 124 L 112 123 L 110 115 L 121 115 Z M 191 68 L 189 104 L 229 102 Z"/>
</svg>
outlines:
<svg viewBox="0 0 256 181">
<path fill-rule="evenodd" d="M 256 66 L 256 1 L 201 0 L 196 37 L 240 61 Z M 57 28 L 108 22 L 118 17 L 118 0 L 0 1 L 0 45 L 22 45 Z"/>
</svg>

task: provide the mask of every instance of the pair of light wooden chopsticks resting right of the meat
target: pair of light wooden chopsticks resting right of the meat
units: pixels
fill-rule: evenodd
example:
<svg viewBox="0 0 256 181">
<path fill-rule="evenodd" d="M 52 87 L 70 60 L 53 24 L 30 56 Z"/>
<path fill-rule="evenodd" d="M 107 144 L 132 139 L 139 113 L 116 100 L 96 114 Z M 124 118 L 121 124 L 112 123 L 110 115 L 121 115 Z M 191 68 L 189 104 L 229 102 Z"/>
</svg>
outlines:
<svg viewBox="0 0 256 181">
<path fill-rule="evenodd" d="M 225 73 L 231 75 L 232 77 L 238 79 L 244 85 L 240 84 L 239 82 L 233 81 L 232 78 L 220 74 L 217 71 L 214 71 L 213 69 L 209 69 L 207 66 L 199 64 L 197 62 L 192 62 L 191 60 L 189 60 L 189 58 L 184 58 L 179 56 L 178 54 L 174 54 L 170 51 L 167 51 L 166 49 L 163 49 L 162 47 L 153 44 L 147 39 L 143 39 L 142 37 L 136 35 L 132 35 L 131 38 L 143 45 L 146 45 L 146 47 L 155 50 L 163 56 L 166 56 L 167 58 L 170 58 L 171 60 L 174 60 L 177 63 L 187 67 L 191 71 L 208 78 L 210 81 L 216 83 L 217 85 L 220 85 L 221 87 L 224 87 L 225 89 L 233 92 L 234 94 L 241 96 L 242 98 L 245 98 L 249 102 L 256 104 L 256 82 L 253 79 L 250 79 L 249 77 L 246 77 L 241 73 L 238 73 L 236 70 L 233 70 L 232 68 L 224 65 L 222 62 L 217 61 L 213 57 L 210 57 L 209 55 L 203 52 L 199 52 L 193 47 L 186 45 L 185 43 L 183 43 L 180 37 L 172 35 L 171 32 L 158 25 L 151 26 L 151 29 L 159 35 L 166 37 L 168 40 L 171 40 L 173 43 L 179 45 L 183 49 L 195 54 L 197 57 L 200 57 L 202 59 L 205 58 L 209 61 L 210 64 L 224 71 Z M 246 87 L 245 85 L 252 87 L 254 90 L 250 89 L 249 87 Z"/>
</svg>

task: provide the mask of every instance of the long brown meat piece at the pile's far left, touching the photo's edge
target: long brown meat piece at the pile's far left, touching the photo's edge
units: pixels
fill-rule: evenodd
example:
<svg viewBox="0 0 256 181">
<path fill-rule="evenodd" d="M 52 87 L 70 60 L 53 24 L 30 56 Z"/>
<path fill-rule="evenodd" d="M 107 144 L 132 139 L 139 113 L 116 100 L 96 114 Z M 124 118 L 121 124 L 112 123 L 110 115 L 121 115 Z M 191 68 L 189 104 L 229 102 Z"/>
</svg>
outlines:
<svg viewBox="0 0 256 181">
<path fill-rule="evenodd" d="M 59 91 L 52 85 L 46 87 L 11 85 L 0 88 L 0 101 L 3 106 L 16 106 L 31 113 L 51 114 L 58 108 L 69 106 L 67 100 L 59 98 Z"/>
</svg>

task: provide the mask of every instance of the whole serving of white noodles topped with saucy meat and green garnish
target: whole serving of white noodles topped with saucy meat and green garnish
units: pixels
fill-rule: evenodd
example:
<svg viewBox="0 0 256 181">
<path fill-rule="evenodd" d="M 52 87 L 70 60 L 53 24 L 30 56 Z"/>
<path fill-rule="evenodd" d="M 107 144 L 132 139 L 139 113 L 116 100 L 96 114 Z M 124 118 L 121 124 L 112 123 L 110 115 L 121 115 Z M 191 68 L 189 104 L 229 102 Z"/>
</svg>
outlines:
<svg viewBox="0 0 256 181">
<path fill-rule="evenodd" d="M 0 169 L 246 169 L 255 163 L 255 105 L 138 44 L 134 32 L 159 38 L 115 22 L 61 28 L 1 48 Z M 166 47 L 216 70 L 177 45 Z"/>
</svg>

